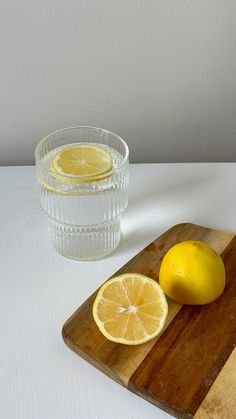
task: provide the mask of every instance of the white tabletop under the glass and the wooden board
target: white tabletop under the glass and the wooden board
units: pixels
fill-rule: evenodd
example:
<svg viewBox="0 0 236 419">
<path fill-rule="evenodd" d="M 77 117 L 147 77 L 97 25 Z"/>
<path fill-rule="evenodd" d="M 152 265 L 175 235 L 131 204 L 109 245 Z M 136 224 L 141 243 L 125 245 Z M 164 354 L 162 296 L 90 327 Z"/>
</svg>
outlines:
<svg viewBox="0 0 236 419">
<path fill-rule="evenodd" d="M 123 238 L 108 258 L 75 262 L 50 246 L 34 167 L 0 168 L 0 418 L 168 418 L 64 344 L 65 320 L 169 227 L 236 231 L 236 164 L 130 166 Z"/>
</svg>

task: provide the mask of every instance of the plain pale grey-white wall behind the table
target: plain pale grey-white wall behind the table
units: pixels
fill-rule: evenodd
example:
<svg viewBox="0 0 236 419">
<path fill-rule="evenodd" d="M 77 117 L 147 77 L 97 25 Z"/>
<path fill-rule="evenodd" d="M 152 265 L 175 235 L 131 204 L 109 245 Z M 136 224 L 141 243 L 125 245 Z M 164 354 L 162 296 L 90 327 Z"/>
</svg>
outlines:
<svg viewBox="0 0 236 419">
<path fill-rule="evenodd" d="M 235 0 L 0 0 L 0 164 L 96 125 L 133 162 L 236 159 Z"/>
</svg>

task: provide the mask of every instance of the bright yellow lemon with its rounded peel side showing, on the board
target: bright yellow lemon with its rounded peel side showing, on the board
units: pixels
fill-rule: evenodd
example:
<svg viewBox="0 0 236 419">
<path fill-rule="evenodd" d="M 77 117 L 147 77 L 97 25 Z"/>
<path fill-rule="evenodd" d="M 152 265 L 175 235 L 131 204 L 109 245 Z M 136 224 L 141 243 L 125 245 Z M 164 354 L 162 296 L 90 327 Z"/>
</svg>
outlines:
<svg viewBox="0 0 236 419">
<path fill-rule="evenodd" d="M 184 241 L 164 256 L 159 283 L 166 295 L 181 304 L 207 304 L 224 291 L 224 263 L 208 244 Z"/>
</svg>

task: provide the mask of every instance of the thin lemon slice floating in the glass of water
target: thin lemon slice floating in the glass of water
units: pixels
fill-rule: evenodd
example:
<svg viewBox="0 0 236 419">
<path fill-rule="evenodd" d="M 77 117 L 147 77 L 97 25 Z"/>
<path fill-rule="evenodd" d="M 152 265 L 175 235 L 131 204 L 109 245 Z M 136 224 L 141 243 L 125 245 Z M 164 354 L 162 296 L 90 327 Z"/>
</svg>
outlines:
<svg viewBox="0 0 236 419">
<path fill-rule="evenodd" d="M 80 176 L 81 181 L 103 175 L 112 169 L 112 157 L 95 144 L 74 144 L 58 151 L 51 162 L 51 169 L 60 177 Z M 62 181 L 66 181 L 61 177 Z M 68 181 L 68 180 L 67 180 Z"/>
</svg>

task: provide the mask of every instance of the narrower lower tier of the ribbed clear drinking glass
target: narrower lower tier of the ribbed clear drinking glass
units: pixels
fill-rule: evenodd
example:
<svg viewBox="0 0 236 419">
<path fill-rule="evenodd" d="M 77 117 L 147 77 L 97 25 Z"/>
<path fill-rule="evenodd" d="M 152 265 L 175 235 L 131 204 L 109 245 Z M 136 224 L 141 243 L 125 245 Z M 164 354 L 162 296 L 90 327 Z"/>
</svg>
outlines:
<svg viewBox="0 0 236 419">
<path fill-rule="evenodd" d="M 54 249 L 74 260 L 95 260 L 115 250 L 121 237 L 121 218 L 110 223 L 73 226 L 49 218 L 49 233 Z"/>
</svg>

